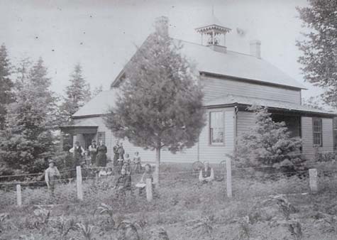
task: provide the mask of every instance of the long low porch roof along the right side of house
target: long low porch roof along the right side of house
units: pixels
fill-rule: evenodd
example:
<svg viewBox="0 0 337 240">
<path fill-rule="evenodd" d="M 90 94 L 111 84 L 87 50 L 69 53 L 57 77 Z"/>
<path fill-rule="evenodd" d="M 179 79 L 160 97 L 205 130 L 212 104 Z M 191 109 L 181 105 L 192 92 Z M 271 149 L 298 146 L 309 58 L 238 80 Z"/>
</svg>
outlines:
<svg viewBox="0 0 337 240">
<path fill-rule="evenodd" d="M 257 97 L 245 97 L 241 95 L 226 94 L 221 97 L 211 99 L 205 102 L 205 107 L 221 107 L 224 105 L 231 104 L 243 104 L 243 105 L 260 105 L 263 107 L 270 107 L 274 109 L 284 109 L 287 111 L 302 111 L 312 114 L 328 114 L 331 116 L 337 116 L 337 112 L 326 111 L 321 109 L 314 109 L 312 107 L 307 107 L 301 104 L 294 104 L 292 102 L 276 101 L 270 99 L 262 99 Z"/>
</svg>

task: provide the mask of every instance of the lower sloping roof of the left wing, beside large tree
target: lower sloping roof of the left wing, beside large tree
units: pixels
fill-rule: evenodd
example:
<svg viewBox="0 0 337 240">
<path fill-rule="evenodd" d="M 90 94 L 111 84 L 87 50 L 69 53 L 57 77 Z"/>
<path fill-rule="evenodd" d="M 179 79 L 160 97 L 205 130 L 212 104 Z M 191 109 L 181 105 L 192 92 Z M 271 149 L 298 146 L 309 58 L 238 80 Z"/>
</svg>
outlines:
<svg viewBox="0 0 337 240">
<path fill-rule="evenodd" d="M 117 99 L 118 89 L 113 88 L 109 91 L 103 91 L 91 99 L 87 104 L 81 107 L 77 112 L 75 112 L 72 117 L 76 118 L 79 116 L 93 116 L 106 114 L 109 107 L 115 107 L 115 102 Z"/>
</svg>

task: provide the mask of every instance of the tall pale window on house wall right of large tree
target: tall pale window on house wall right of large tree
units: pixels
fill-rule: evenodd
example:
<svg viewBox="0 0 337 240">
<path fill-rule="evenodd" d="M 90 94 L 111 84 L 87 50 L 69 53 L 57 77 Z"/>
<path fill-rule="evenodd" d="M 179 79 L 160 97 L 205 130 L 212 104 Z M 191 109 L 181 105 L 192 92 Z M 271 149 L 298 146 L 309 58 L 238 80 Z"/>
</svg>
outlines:
<svg viewBox="0 0 337 240">
<path fill-rule="evenodd" d="M 211 111 L 209 113 L 209 142 L 211 145 L 224 143 L 223 111 Z"/>
</svg>

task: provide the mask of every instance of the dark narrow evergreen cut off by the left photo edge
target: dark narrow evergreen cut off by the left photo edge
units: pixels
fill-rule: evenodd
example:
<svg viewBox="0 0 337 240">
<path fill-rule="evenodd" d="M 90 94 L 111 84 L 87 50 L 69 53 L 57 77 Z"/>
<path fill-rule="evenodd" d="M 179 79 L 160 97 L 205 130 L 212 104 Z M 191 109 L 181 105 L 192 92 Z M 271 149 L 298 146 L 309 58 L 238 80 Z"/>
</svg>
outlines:
<svg viewBox="0 0 337 240">
<path fill-rule="evenodd" d="M 6 118 L 6 106 L 13 102 L 12 87 L 13 82 L 10 79 L 11 64 L 7 55 L 6 46 L 0 46 L 0 130 L 4 129 Z"/>
</svg>

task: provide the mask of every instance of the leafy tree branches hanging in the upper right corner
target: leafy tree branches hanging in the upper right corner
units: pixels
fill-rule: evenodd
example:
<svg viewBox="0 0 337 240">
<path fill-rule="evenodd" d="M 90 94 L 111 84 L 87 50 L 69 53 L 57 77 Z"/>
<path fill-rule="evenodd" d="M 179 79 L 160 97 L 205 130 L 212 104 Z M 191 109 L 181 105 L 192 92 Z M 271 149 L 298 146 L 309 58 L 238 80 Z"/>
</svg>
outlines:
<svg viewBox="0 0 337 240">
<path fill-rule="evenodd" d="M 323 87 L 323 99 L 337 107 L 337 1 L 309 0 L 309 6 L 297 8 L 303 26 L 305 40 L 297 41 L 302 56 L 302 72 L 306 81 Z"/>
</svg>

